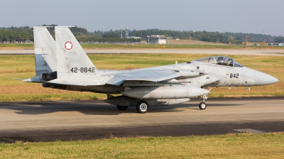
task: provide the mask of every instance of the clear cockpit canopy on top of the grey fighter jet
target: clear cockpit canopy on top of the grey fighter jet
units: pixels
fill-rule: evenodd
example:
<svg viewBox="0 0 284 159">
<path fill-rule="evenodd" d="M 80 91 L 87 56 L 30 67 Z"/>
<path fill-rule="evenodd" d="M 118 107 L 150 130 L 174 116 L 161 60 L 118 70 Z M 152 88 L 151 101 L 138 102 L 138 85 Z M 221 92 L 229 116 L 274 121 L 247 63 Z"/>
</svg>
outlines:
<svg viewBox="0 0 284 159">
<path fill-rule="evenodd" d="M 212 56 L 195 60 L 197 62 L 211 63 L 214 65 L 224 65 L 229 67 L 243 67 L 239 62 L 226 56 Z"/>
</svg>

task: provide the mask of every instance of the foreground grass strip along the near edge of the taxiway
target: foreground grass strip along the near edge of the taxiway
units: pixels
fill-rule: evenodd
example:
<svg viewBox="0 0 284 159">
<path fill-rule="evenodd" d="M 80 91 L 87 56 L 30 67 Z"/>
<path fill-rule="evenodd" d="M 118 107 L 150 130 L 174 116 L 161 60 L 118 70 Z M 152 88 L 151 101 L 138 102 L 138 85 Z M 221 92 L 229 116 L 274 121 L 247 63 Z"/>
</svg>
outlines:
<svg viewBox="0 0 284 159">
<path fill-rule="evenodd" d="M 0 158 L 284 158 L 284 133 L 0 143 Z"/>
</svg>

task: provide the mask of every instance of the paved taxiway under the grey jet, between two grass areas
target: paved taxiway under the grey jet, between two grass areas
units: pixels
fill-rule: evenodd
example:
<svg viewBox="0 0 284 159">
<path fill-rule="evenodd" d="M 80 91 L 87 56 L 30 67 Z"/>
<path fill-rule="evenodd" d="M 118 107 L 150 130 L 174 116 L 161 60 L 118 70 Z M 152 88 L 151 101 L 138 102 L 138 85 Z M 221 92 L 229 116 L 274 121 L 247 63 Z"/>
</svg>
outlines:
<svg viewBox="0 0 284 159">
<path fill-rule="evenodd" d="M 0 142 L 284 131 L 284 97 L 208 99 L 119 111 L 99 101 L 0 103 Z"/>
</svg>

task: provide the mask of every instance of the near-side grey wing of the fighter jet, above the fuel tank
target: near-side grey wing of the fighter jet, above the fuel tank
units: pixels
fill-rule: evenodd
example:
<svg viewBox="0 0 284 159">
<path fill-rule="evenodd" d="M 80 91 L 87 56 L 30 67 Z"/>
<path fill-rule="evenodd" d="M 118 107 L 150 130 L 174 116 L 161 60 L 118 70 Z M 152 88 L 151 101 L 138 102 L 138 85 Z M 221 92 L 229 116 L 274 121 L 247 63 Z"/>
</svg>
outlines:
<svg viewBox="0 0 284 159">
<path fill-rule="evenodd" d="M 115 75 L 109 79 L 106 84 L 119 86 L 125 81 L 152 81 L 160 82 L 166 79 L 173 79 L 180 77 L 181 75 L 173 71 L 163 70 L 140 70 L 140 71 L 129 71 L 123 74 Z"/>
</svg>

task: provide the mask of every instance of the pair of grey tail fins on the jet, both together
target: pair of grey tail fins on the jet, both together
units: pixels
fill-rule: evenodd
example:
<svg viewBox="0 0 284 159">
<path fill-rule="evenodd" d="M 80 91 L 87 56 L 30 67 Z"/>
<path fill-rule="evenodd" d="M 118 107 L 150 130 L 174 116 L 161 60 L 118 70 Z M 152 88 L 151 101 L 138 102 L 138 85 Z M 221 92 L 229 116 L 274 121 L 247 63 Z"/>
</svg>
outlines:
<svg viewBox="0 0 284 159">
<path fill-rule="evenodd" d="M 46 26 L 35 26 L 33 31 L 36 76 L 22 82 L 89 85 L 100 78 L 68 26 L 55 26 L 55 40 Z"/>
</svg>

